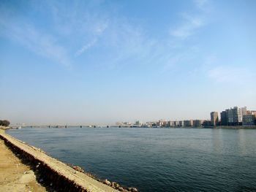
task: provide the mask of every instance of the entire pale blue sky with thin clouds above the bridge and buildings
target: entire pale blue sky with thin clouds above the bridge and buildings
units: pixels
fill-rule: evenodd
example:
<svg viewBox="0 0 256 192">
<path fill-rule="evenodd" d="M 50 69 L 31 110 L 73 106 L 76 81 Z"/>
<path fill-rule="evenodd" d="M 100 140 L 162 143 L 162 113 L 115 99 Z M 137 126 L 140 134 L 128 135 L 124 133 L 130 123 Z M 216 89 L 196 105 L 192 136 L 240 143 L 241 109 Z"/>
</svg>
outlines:
<svg viewBox="0 0 256 192">
<path fill-rule="evenodd" d="M 256 1 L 0 1 L 0 119 L 91 124 L 256 110 Z"/>
</svg>

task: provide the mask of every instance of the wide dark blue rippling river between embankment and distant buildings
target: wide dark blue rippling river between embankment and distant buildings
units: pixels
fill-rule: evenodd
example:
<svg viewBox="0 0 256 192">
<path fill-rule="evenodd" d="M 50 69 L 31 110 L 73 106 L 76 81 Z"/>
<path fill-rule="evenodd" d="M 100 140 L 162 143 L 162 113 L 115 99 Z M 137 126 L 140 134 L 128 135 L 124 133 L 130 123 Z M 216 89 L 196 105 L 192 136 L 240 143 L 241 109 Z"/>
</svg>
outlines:
<svg viewBox="0 0 256 192">
<path fill-rule="evenodd" d="M 256 191 L 256 130 L 23 128 L 8 133 L 140 191 Z"/>
</svg>

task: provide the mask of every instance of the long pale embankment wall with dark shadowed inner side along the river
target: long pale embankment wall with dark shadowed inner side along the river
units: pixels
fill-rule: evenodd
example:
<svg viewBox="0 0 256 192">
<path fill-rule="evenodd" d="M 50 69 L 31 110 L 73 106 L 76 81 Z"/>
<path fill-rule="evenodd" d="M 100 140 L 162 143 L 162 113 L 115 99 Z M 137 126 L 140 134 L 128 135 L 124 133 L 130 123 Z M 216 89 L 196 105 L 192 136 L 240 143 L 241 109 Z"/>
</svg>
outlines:
<svg viewBox="0 0 256 192">
<path fill-rule="evenodd" d="M 51 158 L 37 147 L 27 145 L 14 137 L 4 133 L 0 129 L 0 139 L 5 144 L 34 164 L 45 183 L 56 188 L 57 191 L 90 191 L 90 192 L 115 192 L 114 188 L 100 183 L 82 172 L 78 172 L 67 164 Z"/>
</svg>

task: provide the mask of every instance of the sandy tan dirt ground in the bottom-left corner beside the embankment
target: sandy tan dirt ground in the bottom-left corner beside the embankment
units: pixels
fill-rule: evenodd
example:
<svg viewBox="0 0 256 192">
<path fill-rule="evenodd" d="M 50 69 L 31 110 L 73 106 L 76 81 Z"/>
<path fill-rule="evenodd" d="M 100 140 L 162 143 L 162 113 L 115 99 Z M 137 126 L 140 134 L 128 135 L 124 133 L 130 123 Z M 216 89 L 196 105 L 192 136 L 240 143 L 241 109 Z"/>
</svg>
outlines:
<svg viewBox="0 0 256 192">
<path fill-rule="evenodd" d="M 37 183 L 34 172 L 0 139 L 0 191 L 46 191 Z"/>
</svg>

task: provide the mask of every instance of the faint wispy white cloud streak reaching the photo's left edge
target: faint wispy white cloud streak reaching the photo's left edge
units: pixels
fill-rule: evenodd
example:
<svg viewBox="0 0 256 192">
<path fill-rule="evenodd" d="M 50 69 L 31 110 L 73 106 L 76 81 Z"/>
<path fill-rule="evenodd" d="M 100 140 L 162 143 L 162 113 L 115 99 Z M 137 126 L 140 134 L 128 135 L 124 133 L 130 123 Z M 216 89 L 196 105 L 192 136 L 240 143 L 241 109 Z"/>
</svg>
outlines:
<svg viewBox="0 0 256 192">
<path fill-rule="evenodd" d="M 57 39 L 50 34 L 45 34 L 34 28 L 33 25 L 15 22 L 7 18 L 0 18 L 0 28 L 3 30 L 1 35 L 19 42 L 31 52 L 50 59 L 53 62 L 69 66 L 70 61 L 65 47 L 59 45 Z"/>
</svg>

